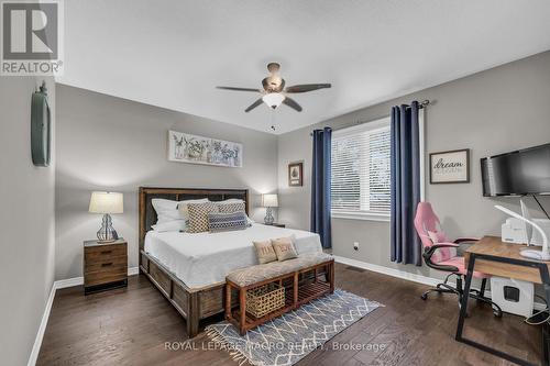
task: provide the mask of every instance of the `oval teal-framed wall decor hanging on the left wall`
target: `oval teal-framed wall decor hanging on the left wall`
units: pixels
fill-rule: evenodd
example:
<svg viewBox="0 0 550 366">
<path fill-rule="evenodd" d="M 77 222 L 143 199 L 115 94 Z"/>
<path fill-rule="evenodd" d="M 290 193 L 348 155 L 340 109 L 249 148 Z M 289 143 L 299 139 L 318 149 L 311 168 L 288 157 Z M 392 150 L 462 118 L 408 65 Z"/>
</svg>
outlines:
<svg viewBox="0 0 550 366">
<path fill-rule="evenodd" d="M 51 122 L 46 82 L 43 81 L 31 99 L 31 155 L 35 166 L 50 165 Z"/>
</svg>

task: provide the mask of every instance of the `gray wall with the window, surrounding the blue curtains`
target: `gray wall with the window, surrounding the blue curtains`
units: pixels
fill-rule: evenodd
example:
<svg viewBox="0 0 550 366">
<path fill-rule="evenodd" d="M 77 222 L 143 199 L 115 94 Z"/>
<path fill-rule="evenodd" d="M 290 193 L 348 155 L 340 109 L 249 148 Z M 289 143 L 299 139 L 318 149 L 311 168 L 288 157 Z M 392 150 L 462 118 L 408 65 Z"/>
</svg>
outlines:
<svg viewBox="0 0 550 366">
<path fill-rule="evenodd" d="M 309 228 L 309 133 L 314 127 L 340 129 L 356 121 L 372 121 L 388 115 L 392 106 L 409 103 L 415 99 L 432 101 L 426 114 L 427 153 L 457 148 L 471 148 L 472 152 L 470 184 L 429 185 L 429 171 L 426 169 L 427 200 L 435 204 L 443 228 L 451 237 L 499 234 L 505 215 L 493 206 L 502 203 L 518 210 L 518 199 L 482 197 L 480 158 L 550 142 L 550 52 L 280 135 L 279 221 L 295 228 Z M 289 188 L 287 185 L 287 164 L 294 160 L 305 162 L 302 188 Z M 550 200 L 547 198 L 543 201 L 550 210 Z M 537 208 L 531 199 L 528 204 Z M 389 262 L 387 222 L 333 219 L 332 241 L 336 255 L 438 277 L 426 266 L 419 268 Z M 359 252 L 353 251 L 354 241 L 360 242 Z"/>
</svg>

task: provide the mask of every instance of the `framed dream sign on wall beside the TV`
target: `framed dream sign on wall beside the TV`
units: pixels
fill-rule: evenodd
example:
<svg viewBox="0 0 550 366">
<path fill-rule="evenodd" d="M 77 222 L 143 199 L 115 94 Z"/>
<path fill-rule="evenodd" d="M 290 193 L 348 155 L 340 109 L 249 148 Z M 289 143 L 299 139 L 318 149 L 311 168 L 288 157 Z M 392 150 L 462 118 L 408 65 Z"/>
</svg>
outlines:
<svg viewBox="0 0 550 366">
<path fill-rule="evenodd" d="M 430 184 L 470 182 L 470 148 L 430 154 Z"/>
</svg>

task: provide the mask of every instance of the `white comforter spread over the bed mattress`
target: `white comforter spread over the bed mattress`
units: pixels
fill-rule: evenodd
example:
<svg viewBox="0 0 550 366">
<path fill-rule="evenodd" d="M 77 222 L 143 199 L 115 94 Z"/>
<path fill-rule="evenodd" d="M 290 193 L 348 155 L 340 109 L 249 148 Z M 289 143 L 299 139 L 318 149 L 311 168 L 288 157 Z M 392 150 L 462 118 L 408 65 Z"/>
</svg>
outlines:
<svg viewBox="0 0 550 366">
<path fill-rule="evenodd" d="M 257 223 L 246 230 L 212 234 L 150 231 L 145 236 L 145 252 L 189 288 L 201 288 L 224 281 L 233 269 L 257 264 L 252 241 L 293 234 L 298 255 L 322 252 L 318 234 Z"/>
</svg>

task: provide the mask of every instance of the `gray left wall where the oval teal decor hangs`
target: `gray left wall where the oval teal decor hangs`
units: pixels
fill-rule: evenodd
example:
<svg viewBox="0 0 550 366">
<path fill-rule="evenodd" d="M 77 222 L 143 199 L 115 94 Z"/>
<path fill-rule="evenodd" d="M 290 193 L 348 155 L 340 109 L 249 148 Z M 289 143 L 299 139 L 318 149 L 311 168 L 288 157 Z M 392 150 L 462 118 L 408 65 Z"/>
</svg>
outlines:
<svg viewBox="0 0 550 366">
<path fill-rule="evenodd" d="M 37 82 L 0 77 L 2 365 L 26 365 L 54 281 L 55 170 L 31 160 L 31 96 Z M 48 93 L 54 109 L 51 80 Z"/>
</svg>

